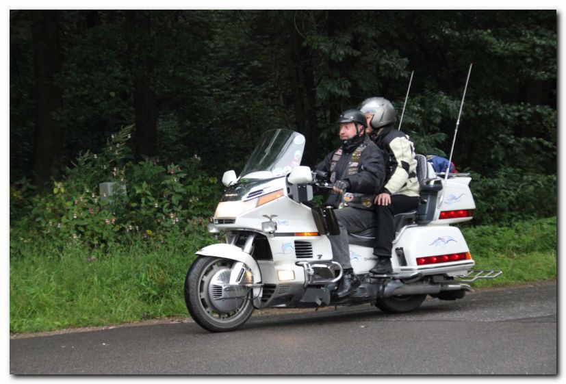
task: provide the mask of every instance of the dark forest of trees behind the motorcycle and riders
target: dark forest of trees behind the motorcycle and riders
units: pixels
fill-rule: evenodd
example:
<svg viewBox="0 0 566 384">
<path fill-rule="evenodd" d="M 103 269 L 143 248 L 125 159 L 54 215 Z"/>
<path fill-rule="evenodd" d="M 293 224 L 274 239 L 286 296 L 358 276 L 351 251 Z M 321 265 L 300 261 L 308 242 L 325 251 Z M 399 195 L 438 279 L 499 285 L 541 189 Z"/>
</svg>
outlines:
<svg viewBox="0 0 566 384">
<path fill-rule="evenodd" d="M 448 156 L 473 63 L 453 161 L 480 220 L 552 216 L 556 59 L 554 10 L 12 10 L 10 212 L 130 125 L 122 164 L 220 178 L 283 127 L 312 166 L 342 110 L 383 96 L 400 116 L 411 71 L 402 130 Z"/>
</svg>

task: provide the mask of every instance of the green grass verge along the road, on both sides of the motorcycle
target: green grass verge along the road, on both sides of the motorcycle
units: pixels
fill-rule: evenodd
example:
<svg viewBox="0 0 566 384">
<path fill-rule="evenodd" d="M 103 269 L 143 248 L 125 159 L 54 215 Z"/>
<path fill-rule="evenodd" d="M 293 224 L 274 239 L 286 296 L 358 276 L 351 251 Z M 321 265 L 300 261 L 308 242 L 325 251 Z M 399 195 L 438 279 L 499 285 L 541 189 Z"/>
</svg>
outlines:
<svg viewBox="0 0 566 384">
<path fill-rule="evenodd" d="M 474 287 L 556 279 L 556 217 L 462 231 L 476 269 L 502 270 Z M 16 240 L 17 241 L 17 240 Z M 89 251 L 38 242 L 10 248 L 10 332 L 188 316 L 183 280 L 202 235 Z"/>
</svg>

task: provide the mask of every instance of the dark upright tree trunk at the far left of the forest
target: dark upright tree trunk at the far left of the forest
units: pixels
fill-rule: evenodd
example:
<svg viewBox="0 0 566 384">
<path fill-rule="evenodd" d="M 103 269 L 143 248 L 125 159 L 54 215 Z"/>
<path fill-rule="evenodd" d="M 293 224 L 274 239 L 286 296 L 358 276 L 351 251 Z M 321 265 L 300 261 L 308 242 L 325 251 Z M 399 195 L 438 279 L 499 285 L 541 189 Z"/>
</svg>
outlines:
<svg viewBox="0 0 566 384">
<path fill-rule="evenodd" d="M 57 11 L 31 13 L 37 92 L 34 181 L 40 185 L 53 175 L 61 157 L 61 130 L 53 118 L 53 112 L 62 106 L 62 92 L 53 81 L 61 70 L 61 52 Z"/>
</svg>

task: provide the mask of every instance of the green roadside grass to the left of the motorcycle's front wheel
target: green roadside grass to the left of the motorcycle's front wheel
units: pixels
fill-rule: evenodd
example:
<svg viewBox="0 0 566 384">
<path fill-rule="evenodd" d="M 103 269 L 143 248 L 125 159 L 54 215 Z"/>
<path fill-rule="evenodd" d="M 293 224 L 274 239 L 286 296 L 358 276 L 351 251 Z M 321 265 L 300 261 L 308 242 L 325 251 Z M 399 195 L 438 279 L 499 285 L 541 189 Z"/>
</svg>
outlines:
<svg viewBox="0 0 566 384">
<path fill-rule="evenodd" d="M 47 249 L 11 259 L 10 331 L 186 316 L 182 287 L 193 259 L 193 251 L 183 248 L 146 246 L 114 249 L 112 255 Z"/>
</svg>

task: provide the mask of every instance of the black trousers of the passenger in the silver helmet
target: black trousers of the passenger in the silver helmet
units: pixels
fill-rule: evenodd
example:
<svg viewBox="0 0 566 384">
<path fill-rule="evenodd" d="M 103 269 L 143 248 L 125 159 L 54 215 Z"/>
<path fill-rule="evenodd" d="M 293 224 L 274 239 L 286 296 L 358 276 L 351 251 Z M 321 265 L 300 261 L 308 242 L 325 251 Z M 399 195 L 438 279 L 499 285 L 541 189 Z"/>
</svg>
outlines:
<svg viewBox="0 0 566 384">
<path fill-rule="evenodd" d="M 376 244 L 374 255 L 391 257 L 391 248 L 395 240 L 394 216 L 417 209 L 419 198 L 417 196 L 405 196 L 394 194 L 391 196 L 391 204 L 376 205 Z"/>
</svg>

